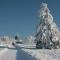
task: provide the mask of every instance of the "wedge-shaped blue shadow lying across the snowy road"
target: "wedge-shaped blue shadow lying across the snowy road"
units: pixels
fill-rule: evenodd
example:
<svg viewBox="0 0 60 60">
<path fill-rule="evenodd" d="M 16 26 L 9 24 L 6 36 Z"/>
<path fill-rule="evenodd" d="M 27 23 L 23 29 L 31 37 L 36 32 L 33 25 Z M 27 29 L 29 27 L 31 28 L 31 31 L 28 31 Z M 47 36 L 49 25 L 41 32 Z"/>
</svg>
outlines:
<svg viewBox="0 0 60 60">
<path fill-rule="evenodd" d="M 35 57 L 32 57 L 25 51 L 22 51 L 21 48 L 17 48 L 17 53 L 16 53 L 16 60 L 37 60 Z"/>
</svg>

